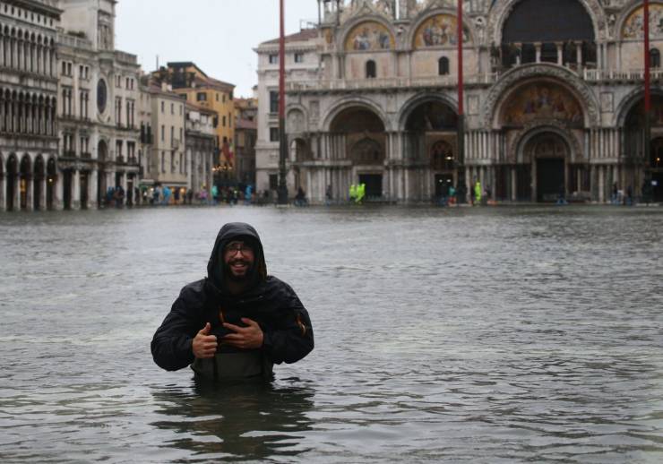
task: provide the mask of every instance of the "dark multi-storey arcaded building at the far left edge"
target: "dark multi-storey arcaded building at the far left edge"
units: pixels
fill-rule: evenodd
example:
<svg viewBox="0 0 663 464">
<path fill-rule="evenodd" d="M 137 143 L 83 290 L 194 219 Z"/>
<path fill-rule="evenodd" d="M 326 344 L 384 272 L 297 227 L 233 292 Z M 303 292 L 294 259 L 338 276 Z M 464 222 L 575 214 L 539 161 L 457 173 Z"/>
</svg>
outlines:
<svg viewBox="0 0 663 464">
<path fill-rule="evenodd" d="M 57 206 L 56 0 L 0 1 L 0 211 Z"/>
</svg>

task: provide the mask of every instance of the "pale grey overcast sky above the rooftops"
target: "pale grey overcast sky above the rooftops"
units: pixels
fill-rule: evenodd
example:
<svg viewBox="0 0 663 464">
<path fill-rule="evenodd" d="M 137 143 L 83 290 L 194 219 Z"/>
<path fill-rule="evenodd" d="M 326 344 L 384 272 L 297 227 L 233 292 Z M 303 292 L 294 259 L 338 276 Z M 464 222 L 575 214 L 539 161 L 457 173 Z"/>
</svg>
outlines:
<svg viewBox="0 0 663 464">
<path fill-rule="evenodd" d="M 286 34 L 317 21 L 317 0 L 285 0 Z M 138 56 L 145 71 L 193 61 L 209 76 L 251 95 L 258 83 L 253 48 L 279 37 L 279 0 L 119 0 L 116 47 Z"/>
</svg>

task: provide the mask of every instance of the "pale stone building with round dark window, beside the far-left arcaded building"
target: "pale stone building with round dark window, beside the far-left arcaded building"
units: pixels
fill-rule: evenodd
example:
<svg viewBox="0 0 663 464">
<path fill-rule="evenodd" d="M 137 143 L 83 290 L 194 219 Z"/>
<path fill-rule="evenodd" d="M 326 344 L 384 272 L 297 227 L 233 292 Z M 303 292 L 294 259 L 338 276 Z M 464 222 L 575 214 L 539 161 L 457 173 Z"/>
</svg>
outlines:
<svg viewBox="0 0 663 464">
<path fill-rule="evenodd" d="M 140 181 L 140 65 L 115 49 L 114 0 L 61 0 L 57 196 L 65 210 L 104 207 Z M 118 200 L 113 200 L 117 202 Z"/>
</svg>

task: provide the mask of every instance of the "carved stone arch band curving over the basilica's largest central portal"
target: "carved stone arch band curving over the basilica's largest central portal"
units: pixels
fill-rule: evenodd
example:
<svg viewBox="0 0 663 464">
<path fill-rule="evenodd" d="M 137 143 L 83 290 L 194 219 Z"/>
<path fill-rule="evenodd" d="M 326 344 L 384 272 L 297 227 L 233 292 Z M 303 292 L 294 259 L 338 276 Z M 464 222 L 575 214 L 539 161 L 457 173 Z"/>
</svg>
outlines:
<svg viewBox="0 0 663 464">
<path fill-rule="evenodd" d="M 563 87 L 581 104 L 583 112 L 583 125 L 585 127 L 598 125 L 598 101 L 587 84 L 571 70 L 556 64 L 525 64 L 505 73 L 491 88 L 484 103 L 484 125 L 486 127 L 500 128 L 499 115 L 504 102 L 512 94 L 512 90 L 526 82 L 544 79 L 555 82 Z"/>
</svg>

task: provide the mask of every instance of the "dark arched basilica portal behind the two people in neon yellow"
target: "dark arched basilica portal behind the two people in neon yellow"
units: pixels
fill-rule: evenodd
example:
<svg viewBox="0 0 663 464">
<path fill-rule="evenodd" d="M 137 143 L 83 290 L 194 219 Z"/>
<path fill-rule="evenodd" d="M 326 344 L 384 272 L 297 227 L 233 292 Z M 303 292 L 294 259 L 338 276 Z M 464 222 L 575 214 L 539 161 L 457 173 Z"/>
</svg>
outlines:
<svg viewBox="0 0 663 464">
<path fill-rule="evenodd" d="M 351 168 L 340 185 L 345 196 L 351 184 L 366 184 L 366 198 L 383 196 L 384 159 L 387 134 L 382 119 L 366 107 L 349 107 L 334 117 L 330 125 L 332 140 L 341 136 L 343 146 L 336 148 L 335 158 L 351 161 Z M 334 184 L 332 180 L 332 184 Z"/>
</svg>

